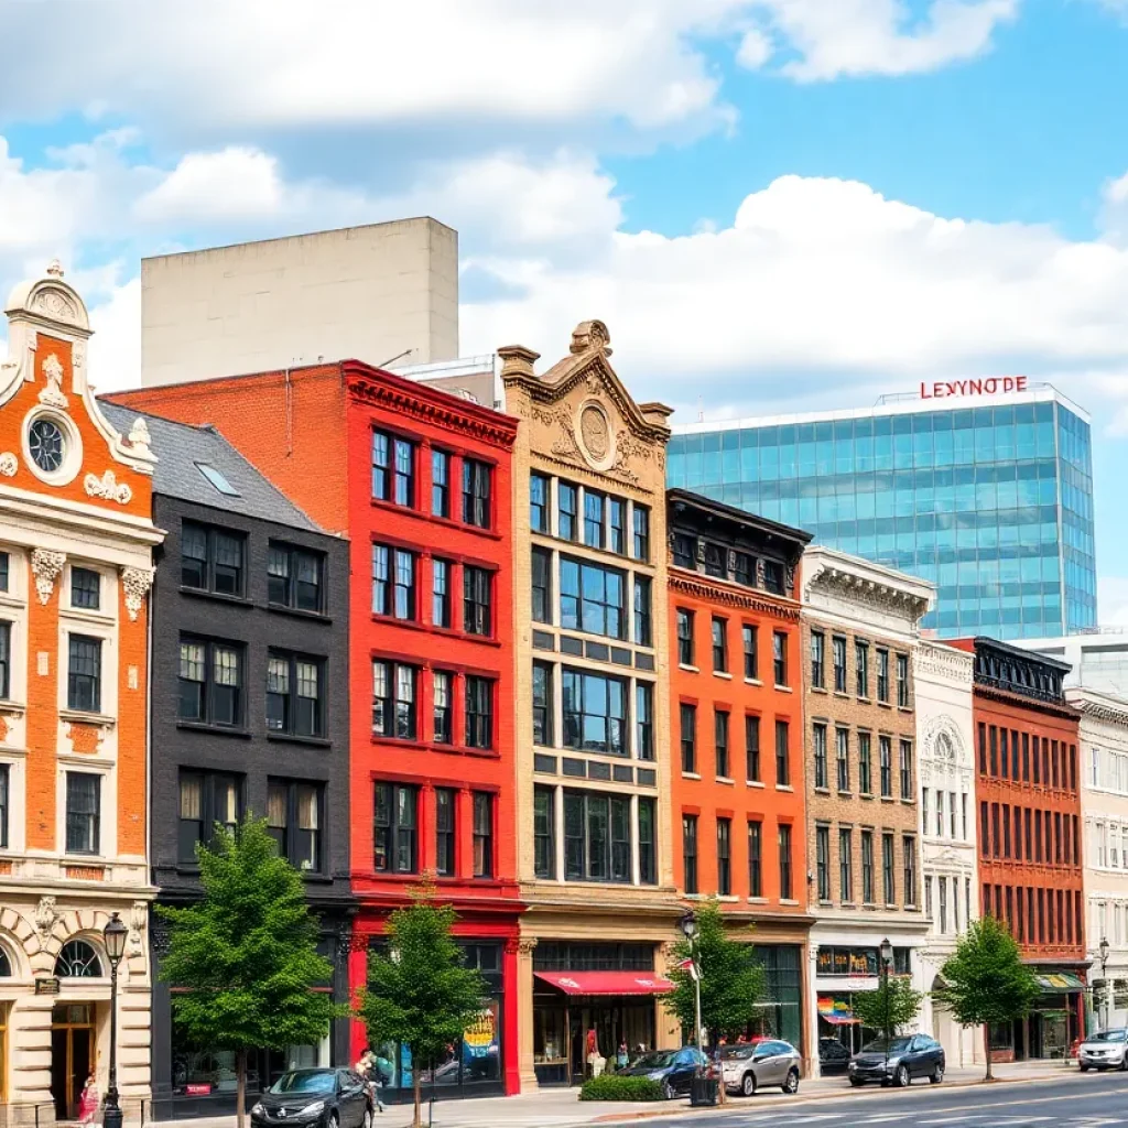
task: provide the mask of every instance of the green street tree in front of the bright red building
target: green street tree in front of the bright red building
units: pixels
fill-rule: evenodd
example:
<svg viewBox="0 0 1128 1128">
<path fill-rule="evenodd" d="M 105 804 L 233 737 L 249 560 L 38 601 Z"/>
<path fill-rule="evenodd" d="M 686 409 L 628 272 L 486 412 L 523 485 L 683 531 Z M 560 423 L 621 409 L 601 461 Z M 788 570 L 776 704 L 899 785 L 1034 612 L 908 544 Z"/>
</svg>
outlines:
<svg viewBox="0 0 1128 1128">
<path fill-rule="evenodd" d="M 369 1041 L 405 1045 L 412 1055 L 415 1128 L 421 1123 L 421 1067 L 458 1045 L 462 1032 L 485 1007 L 485 980 L 462 966 L 451 938 L 457 914 L 439 905 L 434 888 L 412 890 L 412 904 L 388 918 L 386 950 L 368 957 L 368 986 L 361 993 L 360 1016 Z"/>
</svg>

